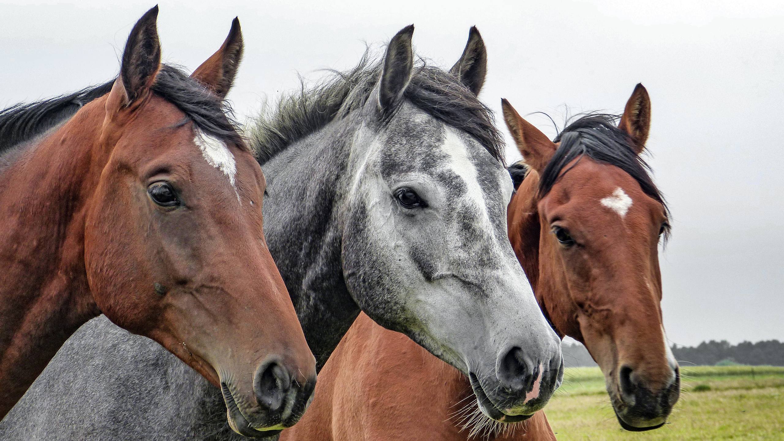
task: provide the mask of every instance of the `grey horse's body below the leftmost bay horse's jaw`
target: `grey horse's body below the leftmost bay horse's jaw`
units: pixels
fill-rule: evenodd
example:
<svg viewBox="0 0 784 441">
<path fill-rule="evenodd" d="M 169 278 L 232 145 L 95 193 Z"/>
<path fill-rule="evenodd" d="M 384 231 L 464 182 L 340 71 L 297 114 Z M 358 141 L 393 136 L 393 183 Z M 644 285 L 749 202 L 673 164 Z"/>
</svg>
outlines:
<svg viewBox="0 0 784 441">
<path fill-rule="evenodd" d="M 103 315 L 71 336 L 0 423 L 3 441 L 233 438 L 218 388 Z"/>
</svg>

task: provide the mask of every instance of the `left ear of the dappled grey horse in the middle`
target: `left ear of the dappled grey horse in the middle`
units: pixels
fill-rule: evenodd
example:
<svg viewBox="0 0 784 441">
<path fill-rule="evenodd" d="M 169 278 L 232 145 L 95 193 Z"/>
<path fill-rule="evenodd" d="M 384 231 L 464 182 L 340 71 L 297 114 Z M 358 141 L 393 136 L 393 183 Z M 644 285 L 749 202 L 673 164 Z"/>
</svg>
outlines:
<svg viewBox="0 0 784 441">
<path fill-rule="evenodd" d="M 411 81 L 414 70 L 414 51 L 411 46 L 413 34 L 414 25 L 409 24 L 397 32 L 387 46 L 379 82 L 379 108 L 384 113 L 400 105 L 405 88 Z"/>
</svg>

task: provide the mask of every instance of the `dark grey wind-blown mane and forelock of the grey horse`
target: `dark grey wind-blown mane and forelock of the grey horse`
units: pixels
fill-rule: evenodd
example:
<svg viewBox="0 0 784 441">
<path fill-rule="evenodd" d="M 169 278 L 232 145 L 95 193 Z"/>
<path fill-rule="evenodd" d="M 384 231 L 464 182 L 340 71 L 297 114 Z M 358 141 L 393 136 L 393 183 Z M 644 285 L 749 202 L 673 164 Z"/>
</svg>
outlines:
<svg viewBox="0 0 784 441">
<path fill-rule="evenodd" d="M 269 161 L 293 142 L 323 128 L 337 118 L 362 108 L 376 87 L 383 60 L 371 62 L 369 50 L 356 67 L 335 72 L 310 89 L 281 98 L 278 108 L 256 118 L 249 141 L 259 162 Z M 475 137 L 503 162 L 503 137 L 495 128 L 492 111 L 456 77 L 420 59 L 414 67 L 405 98 L 427 114 Z"/>
</svg>

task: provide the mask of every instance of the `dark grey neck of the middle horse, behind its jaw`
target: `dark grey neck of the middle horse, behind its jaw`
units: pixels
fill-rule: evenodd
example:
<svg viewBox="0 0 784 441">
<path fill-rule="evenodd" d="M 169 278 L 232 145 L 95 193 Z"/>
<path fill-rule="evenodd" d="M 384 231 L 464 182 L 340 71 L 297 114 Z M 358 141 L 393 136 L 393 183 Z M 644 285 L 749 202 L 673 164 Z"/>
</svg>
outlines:
<svg viewBox="0 0 784 441">
<path fill-rule="evenodd" d="M 349 118 L 332 122 L 262 165 L 264 233 L 318 370 L 360 312 L 341 265 L 343 209 L 353 174 L 350 140 L 357 130 Z"/>
</svg>

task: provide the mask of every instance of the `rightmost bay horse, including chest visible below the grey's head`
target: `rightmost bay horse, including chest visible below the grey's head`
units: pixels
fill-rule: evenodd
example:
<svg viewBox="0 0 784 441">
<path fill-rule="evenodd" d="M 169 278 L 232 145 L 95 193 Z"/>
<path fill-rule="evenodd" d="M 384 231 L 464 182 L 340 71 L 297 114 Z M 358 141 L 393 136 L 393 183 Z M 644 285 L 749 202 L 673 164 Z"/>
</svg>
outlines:
<svg viewBox="0 0 784 441">
<path fill-rule="evenodd" d="M 669 213 L 640 157 L 648 93 L 634 89 L 618 126 L 612 115 L 587 115 L 555 142 L 502 104 L 528 170 L 510 201 L 509 235 L 537 301 L 559 335 L 585 344 L 601 366 L 622 427 L 658 428 L 680 377 L 660 307 L 658 246 Z M 488 418 L 465 375 L 360 315 L 321 370 L 314 405 L 281 434 L 289 439 L 555 436 L 543 412 L 514 425 Z"/>
</svg>

